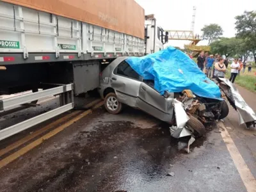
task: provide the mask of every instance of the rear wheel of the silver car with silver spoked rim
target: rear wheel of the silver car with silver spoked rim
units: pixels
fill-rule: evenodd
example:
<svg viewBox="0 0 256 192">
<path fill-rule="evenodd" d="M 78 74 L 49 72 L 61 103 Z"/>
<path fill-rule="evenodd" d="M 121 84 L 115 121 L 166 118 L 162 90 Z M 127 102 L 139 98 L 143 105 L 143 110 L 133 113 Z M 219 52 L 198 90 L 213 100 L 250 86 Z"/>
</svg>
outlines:
<svg viewBox="0 0 256 192">
<path fill-rule="evenodd" d="M 111 114 L 118 114 L 122 111 L 123 105 L 117 100 L 115 93 L 108 93 L 104 99 L 104 106 Z"/>
</svg>

